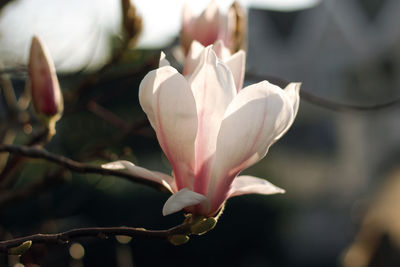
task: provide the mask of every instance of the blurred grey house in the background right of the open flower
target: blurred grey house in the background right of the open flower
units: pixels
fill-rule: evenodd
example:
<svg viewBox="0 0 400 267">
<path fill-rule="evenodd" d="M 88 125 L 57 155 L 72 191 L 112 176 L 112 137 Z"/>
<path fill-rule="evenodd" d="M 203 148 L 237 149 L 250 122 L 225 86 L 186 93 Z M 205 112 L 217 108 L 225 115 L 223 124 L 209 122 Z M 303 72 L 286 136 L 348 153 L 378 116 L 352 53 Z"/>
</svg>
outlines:
<svg viewBox="0 0 400 267">
<path fill-rule="evenodd" d="M 339 108 L 400 98 L 399 15 L 397 0 L 251 9 L 247 72 L 277 83 L 302 81 L 302 90 Z M 265 160 L 273 182 L 297 203 L 284 226 L 289 266 L 327 266 L 327 259 L 339 265 L 384 174 L 398 164 L 398 106 L 338 112 L 303 98 L 294 127 Z"/>
</svg>

